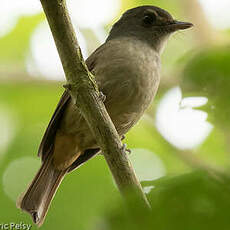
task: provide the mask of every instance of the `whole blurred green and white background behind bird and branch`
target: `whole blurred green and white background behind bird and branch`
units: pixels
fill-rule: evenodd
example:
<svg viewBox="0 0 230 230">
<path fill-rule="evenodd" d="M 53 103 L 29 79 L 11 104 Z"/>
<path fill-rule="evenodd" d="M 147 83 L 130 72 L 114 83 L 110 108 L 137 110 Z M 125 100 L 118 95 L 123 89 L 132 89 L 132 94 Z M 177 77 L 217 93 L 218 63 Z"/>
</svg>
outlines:
<svg viewBox="0 0 230 230">
<path fill-rule="evenodd" d="M 124 208 L 97 156 L 65 178 L 42 230 L 230 229 L 230 1 L 67 0 L 84 57 L 145 4 L 195 25 L 170 39 L 154 103 L 124 141 L 153 213 Z M 15 201 L 39 168 L 64 81 L 40 2 L 1 0 L 0 223 L 32 223 Z"/>
</svg>

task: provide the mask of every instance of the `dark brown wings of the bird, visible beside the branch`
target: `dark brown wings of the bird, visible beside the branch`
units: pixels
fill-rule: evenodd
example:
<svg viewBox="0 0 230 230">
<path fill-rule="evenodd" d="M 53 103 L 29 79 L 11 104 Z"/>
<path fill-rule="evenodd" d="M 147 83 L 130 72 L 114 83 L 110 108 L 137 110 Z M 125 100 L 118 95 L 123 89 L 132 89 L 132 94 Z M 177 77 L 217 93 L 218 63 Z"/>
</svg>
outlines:
<svg viewBox="0 0 230 230">
<path fill-rule="evenodd" d="M 103 45 L 101 46 L 103 47 Z M 97 50 L 95 50 L 95 52 L 86 60 L 86 64 L 88 66 L 88 69 L 93 72 L 93 69 L 95 67 L 96 64 L 96 60 L 97 60 L 97 53 L 100 52 L 100 48 L 99 47 Z M 53 147 L 54 147 L 54 139 L 57 133 L 57 130 L 59 128 L 59 125 L 61 123 L 63 114 L 65 112 L 65 109 L 68 106 L 68 102 L 70 101 L 71 96 L 70 94 L 65 90 L 55 111 L 54 114 L 48 124 L 48 127 L 45 131 L 45 134 L 42 138 L 41 144 L 39 146 L 38 149 L 38 156 L 42 158 L 42 160 L 44 161 L 45 157 L 48 154 L 51 154 L 53 152 Z M 86 154 L 83 154 L 82 156 L 79 157 L 79 159 L 77 160 L 77 162 L 74 162 L 73 165 L 71 166 L 70 171 L 72 171 L 74 168 L 78 167 L 79 165 L 81 165 L 82 163 L 84 163 L 85 161 L 87 161 L 89 158 L 91 158 L 92 156 L 94 156 L 97 152 L 99 151 L 99 149 L 97 150 L 86 150 Z"/>
</svg>

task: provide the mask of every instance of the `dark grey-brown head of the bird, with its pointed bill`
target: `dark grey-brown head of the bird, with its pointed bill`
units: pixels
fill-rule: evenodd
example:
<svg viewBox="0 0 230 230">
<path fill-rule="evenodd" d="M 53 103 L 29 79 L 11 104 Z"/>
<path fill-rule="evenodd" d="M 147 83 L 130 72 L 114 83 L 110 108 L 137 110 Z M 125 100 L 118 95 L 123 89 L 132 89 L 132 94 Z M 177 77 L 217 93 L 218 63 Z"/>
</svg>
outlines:
<svg viewBox="0 0 230 230">
<path fill-rule="evenodd" d="M 162 52 L 169 36 L 192 27 L 189 22 L 174 20 L 165 10 L 156 6 L 140 6 L 126 11 L 112 27 L 107 40 L 133 37 L 147 42 Z"/>
</svg>

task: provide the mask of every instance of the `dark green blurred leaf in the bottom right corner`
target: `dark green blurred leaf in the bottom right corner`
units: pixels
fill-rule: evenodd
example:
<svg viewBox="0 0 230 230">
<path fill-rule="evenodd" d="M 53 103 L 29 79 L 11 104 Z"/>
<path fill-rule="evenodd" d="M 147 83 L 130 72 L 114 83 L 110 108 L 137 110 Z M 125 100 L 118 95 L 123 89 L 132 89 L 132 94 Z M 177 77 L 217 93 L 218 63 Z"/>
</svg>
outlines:
<svg viewBox="0 0 230 230">
<path fill-rule="evenodd" d="M 104 229 L 227 230 L 230 180 L 222 179 L 219 182 L 205 172 L 195 172 L 148 182 L 155 186 L 148 195 L 152 212 L 117 205 L 106 215 Z"/>
</svg>

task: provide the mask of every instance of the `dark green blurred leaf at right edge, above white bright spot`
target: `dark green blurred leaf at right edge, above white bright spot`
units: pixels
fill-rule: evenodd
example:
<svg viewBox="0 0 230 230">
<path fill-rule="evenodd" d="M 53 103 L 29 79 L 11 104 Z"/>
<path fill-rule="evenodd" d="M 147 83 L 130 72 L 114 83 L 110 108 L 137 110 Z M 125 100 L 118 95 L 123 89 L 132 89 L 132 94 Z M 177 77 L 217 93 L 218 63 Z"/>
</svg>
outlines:
<svg viewBox="0 0 230 230">
<path fill-rule="evenodd" d="M 183 72 L 182 90 L 185 95 L 206 96 L 203 107 L 209 120 L 227 129 L 230 126 L 230 46 L 214 47 L 197 52 Z"/>
</svg>

